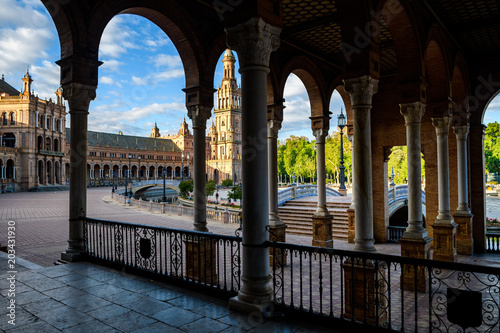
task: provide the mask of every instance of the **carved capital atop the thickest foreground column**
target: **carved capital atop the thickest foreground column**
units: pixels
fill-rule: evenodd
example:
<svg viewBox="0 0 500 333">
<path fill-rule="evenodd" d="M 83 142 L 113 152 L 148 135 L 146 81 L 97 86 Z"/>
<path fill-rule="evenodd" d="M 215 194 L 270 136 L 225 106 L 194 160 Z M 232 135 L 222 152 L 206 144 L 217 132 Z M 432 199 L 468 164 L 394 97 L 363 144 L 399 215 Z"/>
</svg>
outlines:
<svg viewBox="0 0 500 333">
<path fill-rule="evenodd" d="M 227 46 L 238 53 L 240 70 L 247 66 L 269 67 L 271 52 L 280 46 L 281 28 L 256 16 L 225 30 Z"/>
</svg>

